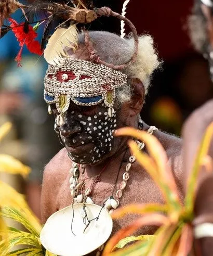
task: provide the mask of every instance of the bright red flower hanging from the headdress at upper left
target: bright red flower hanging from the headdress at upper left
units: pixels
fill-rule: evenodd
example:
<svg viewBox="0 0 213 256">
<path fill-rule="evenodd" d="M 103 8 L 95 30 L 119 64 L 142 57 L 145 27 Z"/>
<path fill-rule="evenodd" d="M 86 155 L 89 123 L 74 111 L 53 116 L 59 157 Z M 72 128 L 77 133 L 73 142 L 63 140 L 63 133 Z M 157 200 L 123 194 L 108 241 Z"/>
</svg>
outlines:
<svg viewBox="0 0 213 256">
<path fill-rule="evenodd" d="M 25 33 L 23 30 L 24 22 L 19 24 L 11 18 L 9 19 L 9 21 L 11 22 L 10 27 L 12 28 L 12 32 L 14 32 L 17 41 L 21 46 L 19 53 L 15 58 L 15 60 L 18 62 L 18 67 L 21 67 L 21 54 L 24 44 L 31 53 L 42 55 L 43 51 L 41 50 L 41 45 L 39 44 L 39 42 L 34 40 L 37 37 L 37 33 L 33 30 L 33 27 L 31 25 L 29 25 L 28 33 Z"/>
</svg>

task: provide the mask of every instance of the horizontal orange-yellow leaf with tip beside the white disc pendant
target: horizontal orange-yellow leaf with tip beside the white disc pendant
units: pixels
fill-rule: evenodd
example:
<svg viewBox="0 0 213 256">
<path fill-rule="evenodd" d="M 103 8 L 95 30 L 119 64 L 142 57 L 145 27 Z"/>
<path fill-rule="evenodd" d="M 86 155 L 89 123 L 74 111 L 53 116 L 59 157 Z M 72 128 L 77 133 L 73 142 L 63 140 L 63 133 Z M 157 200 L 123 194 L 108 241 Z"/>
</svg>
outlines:
<svg viewBox="0 0 213 256">
<path fill-rule="evenodd" d="M 112 219 L 119 219 L 126 214 L 145 214 L 155 212 L 167 212 L 167 207 L 163 204 L 129 204 L 128 206 L 118 208 L 112 213 Z"/>
</svg>

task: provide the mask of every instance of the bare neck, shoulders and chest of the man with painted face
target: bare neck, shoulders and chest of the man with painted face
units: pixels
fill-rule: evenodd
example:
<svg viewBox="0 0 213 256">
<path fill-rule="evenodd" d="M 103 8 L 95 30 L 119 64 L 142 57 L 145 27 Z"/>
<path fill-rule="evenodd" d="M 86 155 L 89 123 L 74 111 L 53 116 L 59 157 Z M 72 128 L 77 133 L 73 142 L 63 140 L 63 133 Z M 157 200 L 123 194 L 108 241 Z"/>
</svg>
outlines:
<svg viewBox="0 0 213 256">
<path fill-rule="evenodd" d="M 179 187 L 180 196 L 182 197 L 183 187 L 183 173 L 181 168 L 181 139 L 170 136 L 163 132 L 154 132 L 154 135 L 164 146 L 169 163 Z M 91 197 L 96 204 L 101 205 L 104 199 L 111 196 L 119 165 L 122 161 L 122 167 L 119 172 L 119 178 L 116 185 L 122 181 L 128 158 L 130 156 L 129 150 L 121 155 L 113 158 L 108 164 L 107 169 L 101 175 L 101 181 L 96 185 Z M 104 163 L 105 164 L 105 163 Z M 72 161 L 67 155 L 66 149 L 62 149 L 47 165 L 44 172 L 43 189 L 42 189 L 42 222 L 45 223 L 48 217 L 54 212 L 70 206 L 72 197 L 69 188 L 70 174 L 69 170 L 72 166 Z M 102 165 L 101 165 L 102 166 Z M 96 171 L 98 167 L 86 167 L 85 175 L 92 178 L 99 173 Z M 92 180 L 86 182 L 86 188 L 90 187 Z M 128 185 L 124 190 L 124 194 L 120 201 L 120 206 L 125 206 L 129 203 L 149 203 L 158 202 L 163 203 L 163 198 L 159 189 L 156 187 L 151 177 L 145 172 L 141 166 L 135 162 L 130 170 L 130 179 Z M 127 217 L 114 222 L 113 233 L 119 228 L 130 224 L 137 216 L 128 215 Z M 144 234 L 153 234 L 155 228 L 143 228 Z M 141 234 L 141 231 L 140 231 Z"/>
</svg>

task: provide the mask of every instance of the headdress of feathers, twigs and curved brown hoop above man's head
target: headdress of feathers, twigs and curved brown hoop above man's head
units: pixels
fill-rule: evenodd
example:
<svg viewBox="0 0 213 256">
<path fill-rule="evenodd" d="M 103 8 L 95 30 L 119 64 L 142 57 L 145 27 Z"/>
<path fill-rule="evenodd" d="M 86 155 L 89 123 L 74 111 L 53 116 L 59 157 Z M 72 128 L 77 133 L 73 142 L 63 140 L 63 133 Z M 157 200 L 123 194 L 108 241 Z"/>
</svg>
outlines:
<svg viewBox="0 0 213 256">
<path fill-rule="evenodd" d="M 44 50 L 44 57 L 47 62 L 54 64 L 57 62 L 57 58 L 68 56 L 66 48 L 69 47 L 75 49 L 77 47 L 78 30 L 85 30 L 84 26 L 86 23 L 90 23 L 101 16 L 113 16 L 128 24 L 134 35 L 135 53 L 129 61 L 131 62 L 135 60 L 137 55 L 138 35 L 134 25 L 124 16 L 127 2 L 129 1 L 125 2 L 123 14 L 119 15 L 109 7 L 95 8 L 92 0 L 55 2 L 35 1 L 29 5 L 22 5 L 16 0 L 0 0 L 0 35 L 3 37 L 9 30 L 14 31 L 16 26 L 8 26 L 4 24 L 3 21 L 20 8 L 23 12 L 25 21 L 21 24 L 17 24 L 17 27 L 21 27 L 25 35 L 28 35 L 29 32 L 32 33 L 32 29 L 35 31 L 39 25 L 46 22 L 41 41 L 41 50 Z M 43 17 L 43 19 L 40 17 Z M 35 24 L 34 27 L 31 27 L 32 24 Z M 124 23 L 122 24 L 122 35 L 124 36 Z M 16 37 L 18 40 L 19 36 L 16 35 Z M 24 39 L 24 36 L 22 35 L 21 38 Z M 35 37 L 33 37 L 33 40 L 34 39 Z M 86 30 L 85 43 L 91 61 L 101 63 L 117 70 L 123 69 L 129 64 L 128 62 L 123 65 L 114 66 L 102 61 L 97 55 L 96 50 L 93 48 L 92 43 L 89 40 L 89 34 Z M 24 40 L 20 42 L 21 46 L 23 46 L 23 44 Z"/>
</svg>

